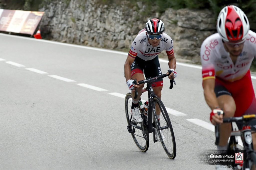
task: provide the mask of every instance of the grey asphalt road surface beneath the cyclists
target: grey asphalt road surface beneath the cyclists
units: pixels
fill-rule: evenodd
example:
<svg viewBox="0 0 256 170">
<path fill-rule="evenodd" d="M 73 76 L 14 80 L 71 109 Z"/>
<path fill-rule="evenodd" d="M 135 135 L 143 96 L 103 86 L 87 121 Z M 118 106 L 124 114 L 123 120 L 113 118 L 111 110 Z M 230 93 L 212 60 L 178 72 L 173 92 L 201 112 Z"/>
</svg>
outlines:
<svg viewBox="0 0 256 170">
<path fill-rule="evenodd" d="M 216 148 L 214 132 L 188 121 L 209 123 L 201 69 L 177 65 L 172 90 L 164 79 L 163 103 L 185 114 L 170 114 L 177 145 L 170 160 L 152 134 L 143 153 L 127 132 L 127 54 L 0 38 L 0 169 L 215 169 L 201 161 L 202 153 Z M 160 64 L 166 72 L 168 64 Z"/>
</svg>

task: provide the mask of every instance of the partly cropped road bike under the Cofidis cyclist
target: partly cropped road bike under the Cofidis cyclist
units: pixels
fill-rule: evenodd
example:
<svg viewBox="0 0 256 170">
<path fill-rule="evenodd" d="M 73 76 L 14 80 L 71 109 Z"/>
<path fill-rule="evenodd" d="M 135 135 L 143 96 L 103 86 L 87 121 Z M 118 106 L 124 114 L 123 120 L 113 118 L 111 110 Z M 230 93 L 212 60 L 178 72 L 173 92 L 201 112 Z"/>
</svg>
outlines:
<svg viewBox="0 0 256 170">
<path fill-rule="evenodd" d="M 227 152 L 229 151 L 236 151 L 237 148 L 237 136 L 241 137 L 241 140 L 243 142 L 244 150 L 246 150 L 247 157 L 243 161 L 243 170 L 251 170 L 256 167 L 256 153 L 253 149 L 253 143 L 252 143 L 252 131 L 251 126 L 249 125 L 249 121 L 252 119 L 255 119 L 256 115 L 243 115 L 240 117 L 229 117 L 229 118 L 223 118 L 223 123 L 231 123 L 231 122 L 243 122 L 242 130 L 236 130 L 232 126 L 232 132 L 230 134 L 230 140 L 227 148 Z M 219 144 L 219 124 L 215 126 L 215 136 L 216 141 L 215 144 Z M 234 167 L 233 169 L 237 169 L 237 167 Z"/>
</svg>

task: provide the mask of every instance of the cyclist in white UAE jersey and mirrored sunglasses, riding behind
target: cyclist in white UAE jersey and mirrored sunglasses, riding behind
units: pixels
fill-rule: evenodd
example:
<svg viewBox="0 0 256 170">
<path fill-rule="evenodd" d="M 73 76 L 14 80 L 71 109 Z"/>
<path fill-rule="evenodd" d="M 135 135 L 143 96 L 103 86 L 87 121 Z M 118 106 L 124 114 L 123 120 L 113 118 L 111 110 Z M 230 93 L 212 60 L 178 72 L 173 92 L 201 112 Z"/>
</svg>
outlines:
<svg viewBox="0 0 256 170">
<path fill-rule="evenodd" d="M 132 90 L 132 121 L 140 123 L 142 118 L 138 110 L 138 100 L 142 94 L 144 84 L 134 85 L 134 79 L 137 81 L 144 80 L 145 77 L 155 77 L 162 74 L 161 67 L 158 61 L 158 54 L 166 50 L 168 56 L 168 65 L 173 72 L 175 78 L 176 60 L 174 57 L 173 40 L 164 33 L 164 23 L 156 18 L 150 19 L 146 22 L 146 26 L 142 29 L 134 41 L 131 49 L 124 63 L 124 74 L 126 83 L 130 90 Z M 161 98 L 161 90 L 163 88 L 163 79 L 157 80 L 155 86 L 153 85 L 154 93 Z M 138 88 L 138 97 L 134 99 L 134 87 Z M 158 137 L 158 135 L 156 135 Z"/>
</svg>

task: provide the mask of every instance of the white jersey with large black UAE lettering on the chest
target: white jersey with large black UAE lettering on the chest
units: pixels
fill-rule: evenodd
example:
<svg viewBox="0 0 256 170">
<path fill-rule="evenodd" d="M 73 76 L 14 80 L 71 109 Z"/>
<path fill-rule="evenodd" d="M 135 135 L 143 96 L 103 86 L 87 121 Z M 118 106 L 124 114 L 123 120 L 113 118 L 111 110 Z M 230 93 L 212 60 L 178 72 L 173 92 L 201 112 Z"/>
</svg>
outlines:
<svg viewBox="0 0 256 170">
<path fill-rule="evenodd" d="M 166 50 L 168 56 L 172 56 L 174 54 L 173 40 L 166 33 L 163 33 L 158 46 L 152 47 L 148 42 L 146 30 L 142 29 L 132 42 L 129 55 L 133 58 L 139 57 L 142 60 L 147 61 L 154 59 L 157 54 L 161 53 L 163 50 Z"/>
</svg>

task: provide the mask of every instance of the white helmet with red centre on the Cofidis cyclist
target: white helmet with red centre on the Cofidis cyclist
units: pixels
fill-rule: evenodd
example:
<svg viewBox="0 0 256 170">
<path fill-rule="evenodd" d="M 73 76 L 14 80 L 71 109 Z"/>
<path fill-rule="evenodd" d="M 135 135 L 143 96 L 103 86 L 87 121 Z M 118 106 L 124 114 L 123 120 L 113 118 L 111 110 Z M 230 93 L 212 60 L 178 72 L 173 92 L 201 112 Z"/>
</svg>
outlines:
<svg viewBox="0 0 256 170">
<path fill-rule="evenodd" d="M 250 30 L 246 15 L 234 5 L 226 6 L 220 11 L 216 26 L 224 41 L 245 40 Z"/>
</svg>

